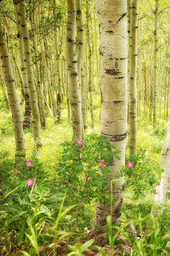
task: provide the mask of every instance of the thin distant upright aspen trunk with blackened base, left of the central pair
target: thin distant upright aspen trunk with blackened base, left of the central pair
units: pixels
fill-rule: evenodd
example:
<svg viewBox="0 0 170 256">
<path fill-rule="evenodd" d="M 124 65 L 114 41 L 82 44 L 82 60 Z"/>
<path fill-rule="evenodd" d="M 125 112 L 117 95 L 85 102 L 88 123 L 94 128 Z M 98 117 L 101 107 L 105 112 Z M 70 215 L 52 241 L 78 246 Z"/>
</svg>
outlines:
<svg viewBox="0 0 170 256">
<path fill-rule="evenodd" d="M 58 35 L 57 28 L 54 30 L 54 46 L 56 52 L 56 71 L 57 71 L 57 118 L 61 117 L 61 106 L 62 106 L 62 77 L 61 77 L 61 69 L 60 69 L 60 51 L 58 48 Z"/>
</svg>

